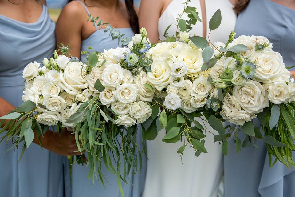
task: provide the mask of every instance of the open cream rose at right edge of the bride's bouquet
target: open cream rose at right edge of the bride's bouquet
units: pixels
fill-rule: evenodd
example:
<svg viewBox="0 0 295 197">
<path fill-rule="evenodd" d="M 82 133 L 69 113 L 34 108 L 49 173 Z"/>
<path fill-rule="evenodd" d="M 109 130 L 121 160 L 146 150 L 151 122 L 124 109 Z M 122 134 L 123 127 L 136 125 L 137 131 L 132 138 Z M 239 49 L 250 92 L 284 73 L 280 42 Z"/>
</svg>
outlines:
<svg viewBox="0 0 295 197">
<path fill-rule="evenodd" d="M 193 82 L 191 95 L 197 96 L 199 94 L 209 94 L 211 90 L 211 83 L 205 77 L 200 77 Z"/>
</svg>

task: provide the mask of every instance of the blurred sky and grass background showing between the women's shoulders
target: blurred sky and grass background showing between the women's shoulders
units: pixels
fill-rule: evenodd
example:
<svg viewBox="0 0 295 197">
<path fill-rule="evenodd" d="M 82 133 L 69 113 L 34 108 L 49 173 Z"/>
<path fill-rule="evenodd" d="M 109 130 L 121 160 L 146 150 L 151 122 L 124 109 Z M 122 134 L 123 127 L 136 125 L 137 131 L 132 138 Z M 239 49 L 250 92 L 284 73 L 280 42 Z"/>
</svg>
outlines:
<svg viewBox="0 0 295 197">
<path fill-rule="evenodd" d="M 83 0 L 81 0 L 83 1 Z M 124 1 L 124 0 L 123 0 Z M 68 0 L 46 0 L 50 18 L 56 22 L 61 9 L 68 3 Z M 134 5 L 139 7 L 140 0 L 133 0 Z"/>
</svg>

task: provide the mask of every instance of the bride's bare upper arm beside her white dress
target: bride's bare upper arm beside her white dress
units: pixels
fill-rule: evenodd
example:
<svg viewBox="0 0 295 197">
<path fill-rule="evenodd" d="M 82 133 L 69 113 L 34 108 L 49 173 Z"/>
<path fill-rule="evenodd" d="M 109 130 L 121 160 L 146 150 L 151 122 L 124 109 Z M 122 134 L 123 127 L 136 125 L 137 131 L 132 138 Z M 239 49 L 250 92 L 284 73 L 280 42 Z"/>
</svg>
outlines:
<svg viewBox="0 0 295 197">
<path fill-rule="evenodd" d="M 163 9 L 163 0 L 142 0 L 139 8 L 139 27 L 145 27 L 152 43 L 159 40 L 158 21 Z"/>
</svg>

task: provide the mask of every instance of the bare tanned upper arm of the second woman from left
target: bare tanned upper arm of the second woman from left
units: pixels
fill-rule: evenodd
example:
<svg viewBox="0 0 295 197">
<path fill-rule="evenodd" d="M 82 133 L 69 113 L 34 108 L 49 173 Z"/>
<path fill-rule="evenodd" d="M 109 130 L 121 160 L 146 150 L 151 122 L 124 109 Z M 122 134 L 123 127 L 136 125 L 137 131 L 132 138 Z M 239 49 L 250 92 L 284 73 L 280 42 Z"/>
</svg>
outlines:
<svg viewBox="0 0 295 197">
<path fill-rule="evenodd" d="M 86 16 L 81 12 L 81 5 L 78 2 L 68 3 L 61 11 L 55 26 L 55 36 L 57 47 L 61 43 L 69 46 L 69 53 L 73 57 L 80 58 L 81 51 L 81 32 L 83 28 L 82 18 Z"/>
</svg>

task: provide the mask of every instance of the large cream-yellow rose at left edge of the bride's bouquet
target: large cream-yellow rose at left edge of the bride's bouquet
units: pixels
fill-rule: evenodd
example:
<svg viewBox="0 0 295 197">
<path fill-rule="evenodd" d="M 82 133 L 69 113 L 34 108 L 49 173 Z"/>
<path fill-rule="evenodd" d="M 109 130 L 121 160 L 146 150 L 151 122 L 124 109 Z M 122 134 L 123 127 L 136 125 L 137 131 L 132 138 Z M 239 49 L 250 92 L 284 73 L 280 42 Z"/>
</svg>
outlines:
<svg viewBox="0 0 295 197">
<path fill-rule="evenodd" d="M 170 68 L 163 61 L 158 59 L 151 64 L 151 72 L 147 73 L 148 82 L 153 84 L 159 91 L 163 90 L 170 83 Z"/>
</svg>

